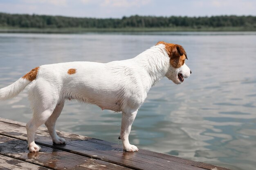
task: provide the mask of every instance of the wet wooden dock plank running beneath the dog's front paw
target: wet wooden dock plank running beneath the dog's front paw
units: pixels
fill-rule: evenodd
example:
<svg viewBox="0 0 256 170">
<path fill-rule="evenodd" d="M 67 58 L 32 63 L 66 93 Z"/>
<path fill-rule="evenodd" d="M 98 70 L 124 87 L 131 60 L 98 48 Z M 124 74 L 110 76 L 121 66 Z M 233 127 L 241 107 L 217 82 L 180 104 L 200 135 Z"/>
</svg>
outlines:
<svg viewBox="0 0 256 170">
<path fill-rule="evenodd" d="M 19 126 L 16 124 L 1 122 L 0 134 L 8 135 L 10 137 L 15 137 L 22 140 L 27 140 L 26 128 L 24 126 Z M 70 135 L 68 135 L 66 139 L 66 145 L 54 145 L 52 144 L 51 138 L 49 137 L 48 133 L 43 130 L 38 130 L 36 133 L 36 142 L 38 144 L 43 144 L 45 146 L 58 148 L 68 152 L 92 157 L 94 159 L 108 161 L 134 169 L 202 170 L 202 168 L 186 165 L 184 163 L 168 161 L 166 159 L 159 159 L 148 155 L 143 155 L 139 152 L 123 152 L 122 146 L 116 144 L 114 144 L 115 146 L 108 146 L 98 144 L 97 142 L 81 140 L 81 136 L 76 137 L 76 139 L 71 139 Z"/>
</svg>

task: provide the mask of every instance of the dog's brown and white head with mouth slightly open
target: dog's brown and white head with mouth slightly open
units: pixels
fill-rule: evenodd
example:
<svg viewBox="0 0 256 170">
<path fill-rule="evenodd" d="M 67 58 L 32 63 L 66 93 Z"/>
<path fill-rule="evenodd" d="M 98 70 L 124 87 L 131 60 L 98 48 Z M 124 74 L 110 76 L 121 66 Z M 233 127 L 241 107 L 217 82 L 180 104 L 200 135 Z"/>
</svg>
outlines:
<svg viewBox="0 0 256 170">
<path fill-rule="evenodd" d="M 169 68 L 165 76 L 175 84 L 182 84 L 184 78 L 188 78 L 192 73 L 189 67 L 185 64 L 185 59 L 188 59 L 185 50 L 178 44 L 170 44 L 160 41 L 156 45 L 159 44 L 164 45 L 164 49 L 170 57 Z"/>
</svg>

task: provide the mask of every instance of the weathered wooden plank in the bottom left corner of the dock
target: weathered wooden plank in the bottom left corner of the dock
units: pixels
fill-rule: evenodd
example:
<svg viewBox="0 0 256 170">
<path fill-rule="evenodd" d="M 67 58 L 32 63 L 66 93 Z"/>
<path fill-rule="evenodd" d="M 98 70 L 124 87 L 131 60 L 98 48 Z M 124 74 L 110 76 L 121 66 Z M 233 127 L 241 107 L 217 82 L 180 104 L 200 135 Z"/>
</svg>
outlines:
<svg viewBox="0 0 256 170">
<path fill-rule="evenodd" d="M 43 166 L 37 166 L 32 163 L 27 163 L 25 161 L 20 161 L 18 159 L 13 159 L 11 157 L 6 157 L 0 155 L 0 169 L 1 170 L 50 170 Z"/>
</svg>

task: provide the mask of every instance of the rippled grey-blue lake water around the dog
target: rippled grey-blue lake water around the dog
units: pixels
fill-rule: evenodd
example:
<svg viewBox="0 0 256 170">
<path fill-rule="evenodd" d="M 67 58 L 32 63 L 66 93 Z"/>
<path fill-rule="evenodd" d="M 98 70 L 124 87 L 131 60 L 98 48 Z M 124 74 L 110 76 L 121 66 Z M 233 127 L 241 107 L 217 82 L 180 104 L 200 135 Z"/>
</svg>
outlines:
<svg viewBox="0 0 256 170">
<path fill-rule="evenodd" d="M 184 47 L 192 74 L 182 85 L 164 77 L 150 89 L 130 142 L 233 170 L 255 170 L 256 32 L 1 33 L 0 88 L 42 64 L 129 59 L 160 40 Z M 1 101 L 0 117 L 27 122 L 27 91 Z M 67 101 L 56 128 L 121 144 L 120 123 L 121 113 Z"/>
</svg>

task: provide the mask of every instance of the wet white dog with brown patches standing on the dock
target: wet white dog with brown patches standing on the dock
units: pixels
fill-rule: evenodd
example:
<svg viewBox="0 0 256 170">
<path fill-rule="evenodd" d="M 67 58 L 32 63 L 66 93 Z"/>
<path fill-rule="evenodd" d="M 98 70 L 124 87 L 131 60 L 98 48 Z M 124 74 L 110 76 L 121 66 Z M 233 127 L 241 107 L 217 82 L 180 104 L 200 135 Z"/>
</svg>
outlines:
<svg viewBox="0 0 256 170">
<path fill-rule="evenodd" d="M 119 139 L 124 151 L 135 152 L 138 148 L 130 144 L 128 136 L 139 107 L 149 89 L 164 76 L 175 84 L 182 84 L 184 78 L 190 76 L 185 59 L 187 55 L 182 46 L 161 41 L 128 60 L 42 65 L 1 88 L 0 99 L 15 97 L 29 85 L 33 110 L 33 117 L 26 125 L 29 152 L 41 149 L 35 144 L 34 136 L 42 124 L 47 127 L 53 143 L 65 144 L 65 139 L 56 134 L 55 123 L 67 99 L 122 112 Z"/>
</svg>

